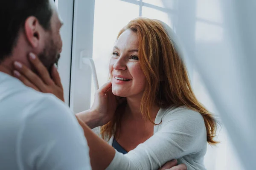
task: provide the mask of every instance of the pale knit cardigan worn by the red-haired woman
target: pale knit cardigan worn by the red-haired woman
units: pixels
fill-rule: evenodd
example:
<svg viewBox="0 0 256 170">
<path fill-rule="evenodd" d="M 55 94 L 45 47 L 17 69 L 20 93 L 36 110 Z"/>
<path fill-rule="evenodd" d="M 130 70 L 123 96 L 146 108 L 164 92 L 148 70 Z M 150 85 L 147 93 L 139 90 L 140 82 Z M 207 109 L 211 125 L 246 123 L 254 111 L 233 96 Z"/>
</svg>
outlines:
<svg viewBox="0 0 256 170">
<path fill-rule="evenodd" d="M 154 135 L 123 155 L 116 151 L 107 170 L 157 170 L 167 161 L 177 159 L 188 170 L 206 170 L 207 133 L 200 113 L 179 108 L 160 108 L 154 126 Z M 94 131 L 99 134 L 99 127 Z M 113 136 L 108 142 L 111 146 Z"/>
</svg>

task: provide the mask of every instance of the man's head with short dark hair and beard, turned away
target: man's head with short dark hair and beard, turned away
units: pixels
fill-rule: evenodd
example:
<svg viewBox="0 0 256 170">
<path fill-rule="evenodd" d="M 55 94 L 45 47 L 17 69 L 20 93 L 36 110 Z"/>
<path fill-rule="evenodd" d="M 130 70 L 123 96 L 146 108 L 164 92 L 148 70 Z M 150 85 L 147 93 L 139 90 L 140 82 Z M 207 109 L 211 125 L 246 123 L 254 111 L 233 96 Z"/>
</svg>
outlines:
<svg viewBox="0 0 256 170">
<path fill-rule="evenodd" d="M 49 69 L 58 62 L 62 48 L 62 23 L 53 0 L 0 1 L 0 63 L 37 54 Z"/>
</svg>

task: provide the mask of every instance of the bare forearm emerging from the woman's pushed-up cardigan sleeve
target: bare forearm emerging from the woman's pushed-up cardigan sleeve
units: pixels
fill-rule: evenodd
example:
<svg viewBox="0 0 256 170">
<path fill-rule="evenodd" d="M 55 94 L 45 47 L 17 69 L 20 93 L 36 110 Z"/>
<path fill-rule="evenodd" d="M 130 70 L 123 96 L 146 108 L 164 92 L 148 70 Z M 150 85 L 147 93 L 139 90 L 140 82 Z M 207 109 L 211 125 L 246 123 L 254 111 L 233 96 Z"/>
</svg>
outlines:
<svg viewBox="0 0 256 170">
<path fill-rule="evenodd" d="M 105 170 L 113 160 L 116 151 L 107 142 L 97 136 L 78 116 L 77 119 L 84 130 L 84 136 L 90 149 L 92 169 Z"/>
</svg>

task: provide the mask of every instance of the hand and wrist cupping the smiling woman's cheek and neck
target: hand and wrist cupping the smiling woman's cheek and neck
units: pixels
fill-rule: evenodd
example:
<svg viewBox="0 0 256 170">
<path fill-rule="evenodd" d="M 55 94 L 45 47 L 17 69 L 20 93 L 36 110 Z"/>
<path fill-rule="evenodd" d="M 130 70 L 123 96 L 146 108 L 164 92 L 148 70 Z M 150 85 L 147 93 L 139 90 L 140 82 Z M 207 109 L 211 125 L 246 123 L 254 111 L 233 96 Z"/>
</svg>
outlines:
<svg viewBox="0 0 256 170">
<path fill-rule="evenodd" d="M 125 98 L 112 93 L 112 84 L 107 82 L 96 91 L 93 106 L 76 115 L 90 128 L 107 124 L 114 116 L 116 108 L 125 101 Z"/>
</svg>

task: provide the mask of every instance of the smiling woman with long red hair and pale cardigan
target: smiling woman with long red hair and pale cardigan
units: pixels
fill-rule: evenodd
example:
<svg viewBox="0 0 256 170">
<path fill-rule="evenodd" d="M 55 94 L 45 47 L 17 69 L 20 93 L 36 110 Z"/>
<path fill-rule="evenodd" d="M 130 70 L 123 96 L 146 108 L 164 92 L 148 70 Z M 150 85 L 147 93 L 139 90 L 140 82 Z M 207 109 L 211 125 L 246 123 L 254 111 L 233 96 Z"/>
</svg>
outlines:
<svg viewBox="0 0 256 170">
<path fill-rule="evenodd" d="M 97 91 L 90 110 L 77 114 L 92 166 L 155 170 L 177 159 L 188 170 L 205 169 L 207 142 L 217 143 L 216 122 L 196 99 L 181 57 L 171 28 L 158 20 L 137 18 L 119 32 L 111 82 Z M 126 98 L 117 109 L 115 96 Z M 98 135 L 108 144 L 84 123 L 101 126 Z"/>
</svg>

